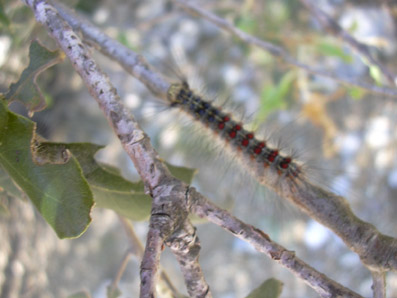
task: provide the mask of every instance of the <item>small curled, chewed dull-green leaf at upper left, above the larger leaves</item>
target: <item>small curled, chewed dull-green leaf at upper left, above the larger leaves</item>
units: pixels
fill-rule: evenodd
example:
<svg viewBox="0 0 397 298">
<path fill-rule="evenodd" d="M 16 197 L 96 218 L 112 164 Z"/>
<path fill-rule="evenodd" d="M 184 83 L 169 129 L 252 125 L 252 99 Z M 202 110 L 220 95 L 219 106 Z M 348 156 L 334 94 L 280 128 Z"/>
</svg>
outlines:
<svg viewBox="0 0 397 298">
<path fill-rule="evenodd" d="M 9 101 L 19 100 L 31 112 L 38 112 L 46 107 L 46 101 L 38 84 L 37 77 L 47 68 L 61 62 L 64 54 L 49 51 L 39 42 L 33 41 L 29 48 L 29 66 L 24 69 L 16 83 L 11 84 L 5 94 Z"/>
</svg>

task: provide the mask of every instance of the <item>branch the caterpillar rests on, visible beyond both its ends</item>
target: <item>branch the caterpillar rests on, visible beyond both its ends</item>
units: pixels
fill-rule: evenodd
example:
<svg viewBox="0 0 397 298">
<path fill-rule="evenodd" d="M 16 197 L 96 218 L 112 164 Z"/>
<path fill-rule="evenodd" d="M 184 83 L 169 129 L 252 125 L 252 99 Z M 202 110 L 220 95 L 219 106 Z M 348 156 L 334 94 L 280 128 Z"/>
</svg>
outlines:
<svg viewBox="0 0 397 298">
<path fill-rule="evenodd" d="M 54 1 L 54 3 L 57 2 Z M 88 21 L 82 22 L 81 18 L 76 17 L 70 9 L 58 3 L 56 5 L 60 9 L 61 15 L 76 30 L 81 30 L 85 38 L 96 43 L 103 53 L 123 65 L 130 74 L 136 76 L 136 69 L 145 69 L 146 76 L 138 73 L 140 76 L 136 78 L 147 85 L 150 90 L 153 91 L 153 86 L 162 86 L 162 88 L 169 86 L 169 83 L 150 70 L 150 67 L 142 59 L 137 59 L 138 55 L 132 50 L 112 40 Z M 215 18 L 217 17 L 215 16 Z M 221 21 L 225 22 L 222 19 Z M 112 53 L 116 53 L 115 56 Z M 147 81 L 151 79 L 155 81 Z M 161 93 L 163 92 L 161 88 L 157 88 L 154 92 L 163 99 L 167 97 L 166 93 Z M 244 166 L 252 163 L 252 160 L 246 160 Z M 263 170 L 255 166 L 254 168 Z M 280 189 L 276 187 L 276 183 L 272 182 L 277 180 L 277 177 L 264 177 L 262 172 L 256 173 L 254 177 L 261 177 L 259 182 L 270 189 L 275 191 Z M 303 177 L 299 183 L 286 186 L 285 188 L 289 191 L 279 192 L 280 196 L 289 199 L 312 218 L 333 230 L 352 251 L 360 256 L 362 262 L 370 269 L 378 271 L 397 270 L 397 240 L 395 238 L 383 235 L 373 225 L 359 219 L 350 209 L 345 198 L 313 185 L 305 179 Z"/>
</svg>

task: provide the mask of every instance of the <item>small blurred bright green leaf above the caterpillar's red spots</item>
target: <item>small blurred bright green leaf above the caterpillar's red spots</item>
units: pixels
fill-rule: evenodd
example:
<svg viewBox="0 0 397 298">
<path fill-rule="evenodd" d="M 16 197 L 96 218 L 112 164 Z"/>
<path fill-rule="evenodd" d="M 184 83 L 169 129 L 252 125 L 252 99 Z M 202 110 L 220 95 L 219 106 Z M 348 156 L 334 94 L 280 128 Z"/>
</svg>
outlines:
<svg viewBox="0 0 397 298">
<path fill-rule="evenodd" d="M 276 86 L 265 86 L 261 94 L 261 106 L 255 122 L 261 123 L 274 110 L 286 108 L 286 97 L 296 78 L 294 71 L 287 72 Z"/>
</svg>

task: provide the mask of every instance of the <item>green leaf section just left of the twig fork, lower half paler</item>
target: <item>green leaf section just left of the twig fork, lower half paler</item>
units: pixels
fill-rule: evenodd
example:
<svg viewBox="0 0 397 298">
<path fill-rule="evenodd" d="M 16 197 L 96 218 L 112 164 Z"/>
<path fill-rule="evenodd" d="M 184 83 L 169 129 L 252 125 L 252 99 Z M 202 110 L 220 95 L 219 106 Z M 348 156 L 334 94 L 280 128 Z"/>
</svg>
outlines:
<svg viewBox="0 0 397 298">
<path fill-rule="evenodd" d="M 130 182 L 113 167 L 98 163 L 94 155 L 102 146 L 89 143 L 65 146 L 80 162 L 97 207 L 112 209 L 135 221 L 149 217 L 152 198 L 145 194 L 143 183 Z"/>
</svg>

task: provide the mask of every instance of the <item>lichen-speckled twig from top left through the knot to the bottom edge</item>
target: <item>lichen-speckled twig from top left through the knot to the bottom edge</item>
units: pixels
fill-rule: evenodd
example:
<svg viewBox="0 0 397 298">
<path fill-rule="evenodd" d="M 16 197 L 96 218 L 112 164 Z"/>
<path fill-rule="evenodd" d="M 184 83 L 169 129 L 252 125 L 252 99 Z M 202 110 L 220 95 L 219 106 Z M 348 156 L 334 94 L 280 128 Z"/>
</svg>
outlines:
<svg viewBox="0 0 397 298">
<path fill-rule="evenodd" d="M 163 243 L 177 228 L 179 231 L 188 215 L 185 201 L 187 185 L 171 176 L 147 135 L 123 106 L 108 76 L 100 70 L 86 46 L 56 9 L 46 0 L 26 0 L 25 3 L 72 62 L 133 161 L 146 192 L 153 197 L 147 245 L 141 265 L 140 296 L 154 297 Z M 200 279 L 204 280 L 203 277 Z M 204 288 L 207 289 L 208 286 Z M 211 294 L 204 297 L 211 297 Z"/>
</svg>

